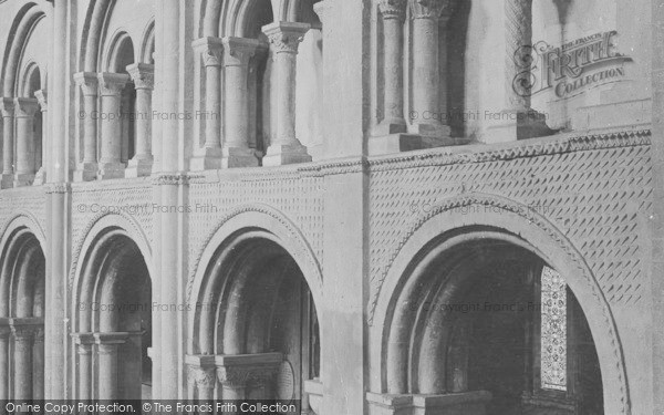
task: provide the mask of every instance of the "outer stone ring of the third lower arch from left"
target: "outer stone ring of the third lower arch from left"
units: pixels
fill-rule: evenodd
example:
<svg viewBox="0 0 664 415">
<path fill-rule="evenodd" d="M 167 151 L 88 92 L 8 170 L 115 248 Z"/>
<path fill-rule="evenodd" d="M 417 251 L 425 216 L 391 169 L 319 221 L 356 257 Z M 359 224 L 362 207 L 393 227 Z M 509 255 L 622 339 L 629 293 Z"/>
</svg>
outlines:
<svg viewBox="0 0 664 415">
<path fill-rule="evenodd" d="M 219 247 L 234 237 L 250 231 L 258 231 L 261 237 L 270 239 L 286 250 L 300 268 L 311 291 L 313 302 L 319 310 L 319 320 L 323 313 L 323 279 L 321 268 L 311 247 L 299 229 L 278 210 L 268 206 L 246 206 L 228 215 L 221 225 L 206 239 L 203 252 L 195 263 L 194 274 L 187 286 L 187 300 L 196 303 L 204 294 L 209 277 L 209 264 L 215 258 Z M 196 319 L 198 313 L 189 315 L 188 344 L 189 353 L 194 350 L 193 341 L 196 338 Z"/>
</svg>

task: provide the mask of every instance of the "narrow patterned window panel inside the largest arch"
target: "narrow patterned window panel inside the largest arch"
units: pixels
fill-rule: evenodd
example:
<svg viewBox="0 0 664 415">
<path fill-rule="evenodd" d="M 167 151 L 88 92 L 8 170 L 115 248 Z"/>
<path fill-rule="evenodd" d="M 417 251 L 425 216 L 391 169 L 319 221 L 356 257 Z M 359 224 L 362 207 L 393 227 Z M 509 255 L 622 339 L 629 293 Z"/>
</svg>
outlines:
<svg viewBox="0 0 664 415">
<path fill-rule="evenodd" d="M 541 387 L 567 391 L 567 286 L 544 267 L 541 287 Z"/>
</svg>

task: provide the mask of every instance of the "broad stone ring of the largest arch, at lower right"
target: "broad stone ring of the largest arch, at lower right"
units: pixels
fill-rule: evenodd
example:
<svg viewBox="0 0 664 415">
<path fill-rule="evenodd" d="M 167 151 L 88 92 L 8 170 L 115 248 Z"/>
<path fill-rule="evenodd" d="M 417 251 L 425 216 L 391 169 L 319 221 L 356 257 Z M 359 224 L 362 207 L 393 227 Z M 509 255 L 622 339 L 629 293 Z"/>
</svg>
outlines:
<svg viewBox="0 0 664 415">
<path fill-rule="evenodd" d="M 461 212 L 460 209 L 465 208 Z M 552 224 L 527 206 L 492 195 L 466 195 L 438 204 L 411 227 L 391 256 L 380 292 L 370 305 L 371 390 L 387 393 L 387 376 L 393 364 L 387 356 L 387 341 L 393 328 L 396 301 L 404 284 L 421 264 L 430 247 L 453 248 L 459 243 L 448 238 L 458 231 L 459 238 L 498 238 L 541 258 L 557 269 L 574 293 L 588 319 L 594 339 L 608 413 L 631 413 L 622 344 L 609 303 L 590 267 L 581 253 Z M 449 243 L 448 247 L 444 246 Z M 429 247 L 429 248 L 427 248 Z"/>
</svg>

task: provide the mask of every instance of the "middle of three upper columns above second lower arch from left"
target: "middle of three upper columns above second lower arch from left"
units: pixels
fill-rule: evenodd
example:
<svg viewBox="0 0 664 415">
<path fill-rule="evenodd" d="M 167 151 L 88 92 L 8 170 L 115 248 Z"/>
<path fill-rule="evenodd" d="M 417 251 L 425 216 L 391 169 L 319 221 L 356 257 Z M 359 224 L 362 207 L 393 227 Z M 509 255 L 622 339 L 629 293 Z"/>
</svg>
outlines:
<svg viewBox="0 0 664 415">
<path fill-rule="evenodd" d="M 122 90 L 129 76 L 120 73 L 100 73 L 100 91 L 102 93 L 102 152 L 98 177 L 124 177 L 122 163 Z"/>
</svg>

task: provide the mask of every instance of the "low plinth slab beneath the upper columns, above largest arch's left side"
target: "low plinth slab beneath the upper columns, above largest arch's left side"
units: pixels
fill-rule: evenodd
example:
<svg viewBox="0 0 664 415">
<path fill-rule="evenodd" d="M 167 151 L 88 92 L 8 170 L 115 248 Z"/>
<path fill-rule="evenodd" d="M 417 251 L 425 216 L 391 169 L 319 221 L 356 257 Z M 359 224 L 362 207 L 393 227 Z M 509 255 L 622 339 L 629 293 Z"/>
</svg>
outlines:
<svg viewBox="0 0 664 415">
<path fill-rule="evenodd" d="M 369 155 L 380 156 L 412 152 L 414 149 L 447 147 L 468 144 L 468 138 L 455 138 L 449 136 L 432 137 L 418 134 L 390 134 L 369 138 Z"/>
</svg>

